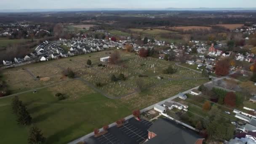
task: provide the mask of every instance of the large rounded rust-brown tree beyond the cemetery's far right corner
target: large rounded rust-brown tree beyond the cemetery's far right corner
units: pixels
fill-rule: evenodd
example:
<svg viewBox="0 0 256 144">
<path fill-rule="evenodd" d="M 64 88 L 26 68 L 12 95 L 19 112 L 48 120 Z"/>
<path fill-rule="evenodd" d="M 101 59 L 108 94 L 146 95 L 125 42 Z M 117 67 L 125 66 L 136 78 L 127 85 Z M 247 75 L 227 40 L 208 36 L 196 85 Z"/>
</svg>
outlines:
<svg viewBox="0 0 256 144">
<path fill-rule="evenodd" d="M 229 61 L 228 60 L 221 60 L 217 61 L 215 67 L 215 74 L 225 76 L 229 74 Z"/>
</svg>

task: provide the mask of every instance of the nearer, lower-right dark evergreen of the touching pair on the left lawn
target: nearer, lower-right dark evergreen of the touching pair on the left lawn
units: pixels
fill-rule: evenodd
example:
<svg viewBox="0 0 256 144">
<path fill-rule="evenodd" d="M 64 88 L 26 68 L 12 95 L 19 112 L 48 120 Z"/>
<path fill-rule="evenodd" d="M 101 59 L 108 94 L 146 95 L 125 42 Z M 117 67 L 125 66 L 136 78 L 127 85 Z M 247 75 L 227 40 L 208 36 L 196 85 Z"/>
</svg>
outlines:
<svg viewBox="0 0 256 144">
<path fill-rule="evenodd" d="M 27 111 L 27 108 L 24 105 L 19 106 L 17 116 L 17 121 L 21 125 L 30 125 L 32 122 L 32 117 L 29 115 L 29 112 Z"/>
</svg>

